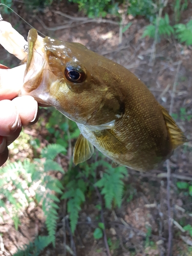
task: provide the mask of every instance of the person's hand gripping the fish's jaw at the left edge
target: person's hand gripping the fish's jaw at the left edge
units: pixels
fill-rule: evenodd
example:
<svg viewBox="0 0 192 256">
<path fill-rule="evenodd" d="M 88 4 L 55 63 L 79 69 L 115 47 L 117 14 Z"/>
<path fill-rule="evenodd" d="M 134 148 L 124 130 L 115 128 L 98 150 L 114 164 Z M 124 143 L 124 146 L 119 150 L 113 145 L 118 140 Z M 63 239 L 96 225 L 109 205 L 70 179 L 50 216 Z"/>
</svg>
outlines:
<svg viewBox="0 0 192 256">
<path fill-rule="evenodd" d="M 17 97 L 23 86 L 25 65 L 3 69 L 0 65 L 0 166 L 9 155 L 8 145 L 22 131 L 22 126 L 38 120 L 38 104 L 31 96 Z"/>
</svg>

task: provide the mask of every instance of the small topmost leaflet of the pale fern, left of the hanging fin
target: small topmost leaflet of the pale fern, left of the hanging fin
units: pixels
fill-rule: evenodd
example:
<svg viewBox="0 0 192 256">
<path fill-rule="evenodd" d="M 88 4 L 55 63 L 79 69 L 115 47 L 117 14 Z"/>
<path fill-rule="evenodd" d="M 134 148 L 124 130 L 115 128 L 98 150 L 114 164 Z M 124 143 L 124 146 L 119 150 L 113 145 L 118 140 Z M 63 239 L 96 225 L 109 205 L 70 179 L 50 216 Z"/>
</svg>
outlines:
<svg viewBox="0 0 192 256">
<path fill-rule="evenodd" d="M 53 160 L 58 154 L 67 152 L 66 148 L 59 144 L 50 144 L 41 152 L 41 156 Z"/>
</svg>

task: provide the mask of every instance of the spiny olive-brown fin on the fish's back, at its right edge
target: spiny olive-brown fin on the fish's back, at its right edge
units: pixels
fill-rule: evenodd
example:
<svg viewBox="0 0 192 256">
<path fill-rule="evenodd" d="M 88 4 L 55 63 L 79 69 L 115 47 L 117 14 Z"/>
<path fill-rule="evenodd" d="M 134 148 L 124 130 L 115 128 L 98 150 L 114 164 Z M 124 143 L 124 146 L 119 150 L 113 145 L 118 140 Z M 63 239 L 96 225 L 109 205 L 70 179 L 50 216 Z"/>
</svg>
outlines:
<svg viewBox="0 0 192 256">
<path fill-rule="evenodd" d="M 167 110 L 163 108 L 163 106 L 161 106 L 161 110 L 165 119 L 166 126 L 168 128 L 168 132 L 170 134 L 170 138 L 173 143 L 173 148 L 175 149 L 179 145 L 187 142 L 188 140 L 181 131 L 181 129 L 177 126 L 174 119 L 168 114 Z"/>
</svg>

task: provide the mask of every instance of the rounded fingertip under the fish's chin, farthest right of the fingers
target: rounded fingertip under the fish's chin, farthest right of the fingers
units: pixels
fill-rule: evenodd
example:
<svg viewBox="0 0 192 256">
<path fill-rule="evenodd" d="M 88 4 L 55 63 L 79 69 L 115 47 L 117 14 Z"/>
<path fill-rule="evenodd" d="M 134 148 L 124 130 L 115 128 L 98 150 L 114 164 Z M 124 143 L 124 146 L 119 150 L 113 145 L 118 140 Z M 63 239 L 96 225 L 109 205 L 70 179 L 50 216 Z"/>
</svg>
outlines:
<svg viewBox="0 0 192 256">
<path fill-rule="evenodd" d="M 16 97 L 12 100 L 19 114 L 22 125 L 29 125 L 34 122 L 37 116 L 38 104 L 33 97 L 26 95 Z"/>
</svg>

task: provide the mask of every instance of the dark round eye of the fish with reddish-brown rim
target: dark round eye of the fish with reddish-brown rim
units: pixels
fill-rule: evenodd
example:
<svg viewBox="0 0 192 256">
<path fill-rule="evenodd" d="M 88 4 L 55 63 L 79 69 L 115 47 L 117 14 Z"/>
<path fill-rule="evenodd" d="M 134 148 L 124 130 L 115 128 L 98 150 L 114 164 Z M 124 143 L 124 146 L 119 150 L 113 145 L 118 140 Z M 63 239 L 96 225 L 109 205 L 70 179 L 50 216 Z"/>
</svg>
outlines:
<svg viewBox="0 0 192 256">
<path fill-rule="evenodd" d="M 86 79 L 86 73 L 78 67 L 71 65 L 66 67 L 65 76 L 70 82 L 83 82 Z"/>
</svg>

